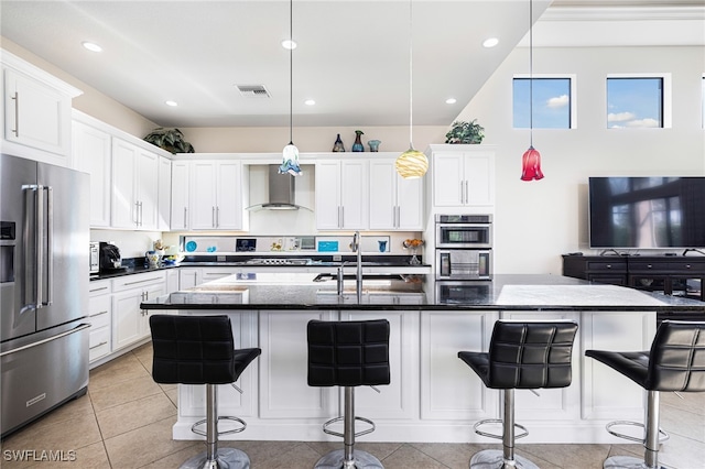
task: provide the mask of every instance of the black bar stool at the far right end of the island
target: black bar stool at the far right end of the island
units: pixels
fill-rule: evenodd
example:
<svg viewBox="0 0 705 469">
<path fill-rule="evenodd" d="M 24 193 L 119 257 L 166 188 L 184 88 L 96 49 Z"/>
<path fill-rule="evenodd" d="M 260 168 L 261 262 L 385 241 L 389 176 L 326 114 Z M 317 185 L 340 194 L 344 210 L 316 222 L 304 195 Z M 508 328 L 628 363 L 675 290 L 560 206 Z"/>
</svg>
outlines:
<svg viewBox="0 0 705 469">
<path fill-rule="evenodd" d="M 659 392 L 705 391 L 705 323 L 664 320 L 650 351 L 586 350 L 585 356 L 605 363 L 648 391 L 643 424 L 625 421 L 607 424 L 610 434 L 643 444 L 644 458 L 612 456 L 603 467 L 659 468 L 659 444 L 668 439 L 668 434 L 659 428 Z M 644 436 L 636 438 L 611 429 L 619 425 L 642 427 Z"/>
</svg>

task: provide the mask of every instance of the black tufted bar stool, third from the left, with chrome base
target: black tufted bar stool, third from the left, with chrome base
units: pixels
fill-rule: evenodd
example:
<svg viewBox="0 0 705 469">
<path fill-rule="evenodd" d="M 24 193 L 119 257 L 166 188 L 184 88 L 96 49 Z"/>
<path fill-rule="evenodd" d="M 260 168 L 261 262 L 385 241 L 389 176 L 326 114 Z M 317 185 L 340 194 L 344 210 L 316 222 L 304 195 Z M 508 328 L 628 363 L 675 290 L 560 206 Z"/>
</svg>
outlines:
<svg viewBox="0 0 705 469">
<path fill-rule="evenodd" d="M 495 323 L 489 352 L 460 351 L 458 358 L 490 389 L 505 395 L 505 418 L 489 418 L 475 424 L 478 435 L 502 440 L 502 450 L 486 449 L 473 455 L 470 468 L 536 468 L 536 465 L 514 455 L 514 440 L 529 435 L 514 423 L 514 390 L 566 388 L 571 385 L 573 342 L 577 324 L 573 321 Z M 502 424 L 502 435 L 481 432 L 485 424 Z M 522 430 L 514 435 L 514 427 Z"/>
</svg>

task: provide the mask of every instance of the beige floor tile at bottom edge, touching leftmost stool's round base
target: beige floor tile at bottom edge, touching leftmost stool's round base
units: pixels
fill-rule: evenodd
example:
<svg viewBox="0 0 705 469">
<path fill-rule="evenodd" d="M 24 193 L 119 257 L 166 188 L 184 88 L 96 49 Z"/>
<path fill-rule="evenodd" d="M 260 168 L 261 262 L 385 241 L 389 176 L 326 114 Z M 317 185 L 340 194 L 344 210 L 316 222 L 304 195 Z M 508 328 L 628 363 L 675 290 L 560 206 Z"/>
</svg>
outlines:
<svg viewBox="0 0 705 469">
<path fill-rule="evenodd" d="M 107 438 L 106 449 L 112 468 L 139 468 L 193 446 L 194 441 L 172 439 L 172 426 L 175 422 L 176 417 L 169 417 Z"/>
</svg>

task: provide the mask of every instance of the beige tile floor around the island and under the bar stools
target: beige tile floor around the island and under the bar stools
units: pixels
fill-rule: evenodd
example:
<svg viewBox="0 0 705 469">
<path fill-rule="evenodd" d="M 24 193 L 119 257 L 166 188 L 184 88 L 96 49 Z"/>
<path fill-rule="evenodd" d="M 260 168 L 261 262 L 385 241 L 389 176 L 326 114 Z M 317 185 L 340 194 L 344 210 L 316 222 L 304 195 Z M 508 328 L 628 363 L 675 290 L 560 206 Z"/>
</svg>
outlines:
<svg viewBox="0 0 705 469">
<path fill-rule="evenodd" d="M 145 345 L 94 369 L 87 395 L 2 441 L 0 467 L 176 468 L 200 451 L 202 443 L 171 439 L 176 386 L 152 381 L 151 353 L 151 345 Z M 662 395 L 662 427 L 671 439 L 662 446 L 660 460 L 670 468 L 705 468 L 705 393 L 684 397 Z M 224 443 L 230 445 L 249 455 L 253 469 L 312 468 L 321 455 L 340 447 L 334 443 Z M 466 469 L 474 452 L 499 445 L 360 443 L 357 447 L 372 452 L 387 469 Z M 32 461 L 12 460 L 8 452 L 32 449 Z M 37 460 L 43 450 L 64 451 L 59 454 L 64 461 Z M 642 454 L 640 445 L 519 445 L 517 452 L 544 469 L 599 469 L 608 456 Z"/>
</svg>

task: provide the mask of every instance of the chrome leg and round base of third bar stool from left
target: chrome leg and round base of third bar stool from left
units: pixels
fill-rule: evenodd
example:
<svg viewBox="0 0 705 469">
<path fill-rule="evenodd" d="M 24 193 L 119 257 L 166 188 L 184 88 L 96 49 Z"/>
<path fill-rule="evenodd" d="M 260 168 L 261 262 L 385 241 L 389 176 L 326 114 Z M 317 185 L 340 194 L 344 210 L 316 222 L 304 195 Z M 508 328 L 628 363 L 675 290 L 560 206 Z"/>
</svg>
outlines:
<svg viewBox="0 0 705 469">
<path fill-rule="evenodd" d="M 476 452 L 470 459 L 470 469 L 539 469 L 529 459 L 514 455 L 514 390 L 506 389 L 502 392 L 505 393 L 502 450 L 485 449 Z"/>
</svg>

